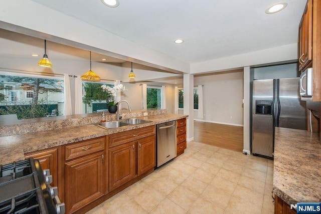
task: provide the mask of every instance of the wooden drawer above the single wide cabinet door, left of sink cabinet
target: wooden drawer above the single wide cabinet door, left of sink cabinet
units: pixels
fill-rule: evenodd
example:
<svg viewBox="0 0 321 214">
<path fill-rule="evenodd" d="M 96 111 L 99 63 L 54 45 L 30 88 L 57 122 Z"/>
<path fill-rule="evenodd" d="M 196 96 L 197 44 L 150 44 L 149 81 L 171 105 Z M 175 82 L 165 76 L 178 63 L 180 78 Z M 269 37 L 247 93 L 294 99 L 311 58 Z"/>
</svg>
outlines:
<svg viewBox="0 0 321 214">
<path fill-rule="evenodd" d="M 105 149 L 105 137 L 74 143 L 65 147 L 65 160 L 91 154 Z"/>
</svg>

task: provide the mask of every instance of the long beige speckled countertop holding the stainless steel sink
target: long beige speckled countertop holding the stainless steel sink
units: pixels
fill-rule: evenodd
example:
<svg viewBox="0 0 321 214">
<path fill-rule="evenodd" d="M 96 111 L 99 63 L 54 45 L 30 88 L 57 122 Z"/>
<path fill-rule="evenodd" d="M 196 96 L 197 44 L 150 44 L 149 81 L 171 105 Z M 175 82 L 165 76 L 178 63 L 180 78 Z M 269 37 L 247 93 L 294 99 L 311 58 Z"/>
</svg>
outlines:
<svg viewBox="0 0 321 214">
<path fill-rule="evenodd" d="M 52 148 L 68 143 L 74 143 L 95 137 L 105 136 L 117 132 L 128 131 L 146 126 L 165 123 L 181 118 L 186 118 L 182 114 L 160 114 L 154 116 L 139 117 L 151 122 L 129 125 L 115 129 L 104 129 L 96 125 L 76 126 L 64 129 L 49 131 L 39 131 L 20 135 L 0 137 L 0 164 L 7 164 L 13 161 L 25 159 L 25 153 Z"/>
</svg>

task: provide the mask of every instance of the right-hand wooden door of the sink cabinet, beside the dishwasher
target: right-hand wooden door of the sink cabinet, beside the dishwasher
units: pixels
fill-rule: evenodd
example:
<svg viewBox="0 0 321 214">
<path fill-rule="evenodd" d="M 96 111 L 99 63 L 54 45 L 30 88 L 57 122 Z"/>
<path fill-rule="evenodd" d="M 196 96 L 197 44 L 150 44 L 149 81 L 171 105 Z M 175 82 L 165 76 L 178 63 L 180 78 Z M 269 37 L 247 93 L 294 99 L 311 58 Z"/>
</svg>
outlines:
<svg viewBox="0 0 321 214">
<path fill-rule="evenodd" d="M 138 140 L 137 152 L 137 172 L 139 176 L 156 165 L 155 136 L 145 137 Z"/>
</svg>

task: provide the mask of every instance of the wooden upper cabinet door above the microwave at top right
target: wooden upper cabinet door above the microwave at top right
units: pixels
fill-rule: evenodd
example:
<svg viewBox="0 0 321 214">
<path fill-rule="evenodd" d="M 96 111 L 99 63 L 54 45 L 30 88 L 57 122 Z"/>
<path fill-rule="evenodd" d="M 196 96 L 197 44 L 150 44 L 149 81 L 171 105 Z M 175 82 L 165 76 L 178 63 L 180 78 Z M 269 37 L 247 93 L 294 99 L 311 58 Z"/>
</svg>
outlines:
<svg viewBox="0 0 321 214">
<path fill-rule="evenodd" d="M 299 24 L 299 71 L 312 60 L 312 0 L 308 0 Z"/>
</svg>

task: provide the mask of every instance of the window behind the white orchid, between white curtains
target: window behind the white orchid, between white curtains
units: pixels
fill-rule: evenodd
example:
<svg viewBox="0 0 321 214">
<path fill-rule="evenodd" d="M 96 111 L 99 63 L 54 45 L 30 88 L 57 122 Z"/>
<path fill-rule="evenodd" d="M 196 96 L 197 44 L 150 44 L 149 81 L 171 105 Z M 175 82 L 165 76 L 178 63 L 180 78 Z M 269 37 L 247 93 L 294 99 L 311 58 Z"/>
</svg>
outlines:
<svg viewBox="0 0 321 214">
<path fill-rule="evenodd" d="M 114 87 L 111 82 L 83 82 L 83 103 L 85 105 L 84 113 L 102 112 L 108 110 L 107 93 L 103 92 L 101 86 L 107 85 Z"/>
</svg>

